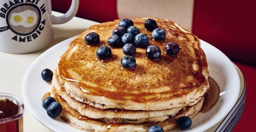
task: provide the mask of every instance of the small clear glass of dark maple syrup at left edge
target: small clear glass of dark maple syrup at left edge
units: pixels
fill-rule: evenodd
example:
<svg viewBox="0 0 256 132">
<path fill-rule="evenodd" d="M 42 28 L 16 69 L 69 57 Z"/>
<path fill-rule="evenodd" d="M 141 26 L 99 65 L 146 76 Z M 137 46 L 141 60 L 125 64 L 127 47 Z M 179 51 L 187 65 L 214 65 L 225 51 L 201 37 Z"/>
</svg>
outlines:
<svg viewBox="0 0 256 132">
<path fill-rule="evenodd" d="M 23 132 L 23 103 L 9 95 L 0 93 L 0 132 Z"/>
</svg>

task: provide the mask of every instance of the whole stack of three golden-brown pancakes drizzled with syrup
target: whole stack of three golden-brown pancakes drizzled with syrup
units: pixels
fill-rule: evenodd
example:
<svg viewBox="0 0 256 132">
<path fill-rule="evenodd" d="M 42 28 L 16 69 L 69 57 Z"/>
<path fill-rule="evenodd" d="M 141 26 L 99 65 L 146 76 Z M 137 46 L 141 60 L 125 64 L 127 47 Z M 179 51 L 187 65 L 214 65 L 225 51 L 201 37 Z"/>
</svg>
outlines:
<svg viewBox="0 0 256 132">
<path fill-rule="evenodd" d="M 146 18 L 131 19 L 162 50 L 159 60 L 145 57 L 137 47 L 136 66 L 123 69 L 122 48 L 111 47 L 112 57 L 100 60 L 96 50 L 109 46 L 108 38 L 119 20 L 93 25 L 80 34 L 61 56 L 52 79 L 51 96 L 63 106 L 60 117 L 77 129 L 95 132 L 146 132 L 158 124 L 165 131 L 177 126 L 180 116 L 200 112 L 209 89 L 207 59 L 198 37 L 170 21 L 154 18 L 166 32 L 154 41 L 144 27 Z M 99 45 L 87 45 L 89 32 L 99 34 Z M 180 47 L 176 56 L 165 54 L 166 43 Z"/>
</svg>

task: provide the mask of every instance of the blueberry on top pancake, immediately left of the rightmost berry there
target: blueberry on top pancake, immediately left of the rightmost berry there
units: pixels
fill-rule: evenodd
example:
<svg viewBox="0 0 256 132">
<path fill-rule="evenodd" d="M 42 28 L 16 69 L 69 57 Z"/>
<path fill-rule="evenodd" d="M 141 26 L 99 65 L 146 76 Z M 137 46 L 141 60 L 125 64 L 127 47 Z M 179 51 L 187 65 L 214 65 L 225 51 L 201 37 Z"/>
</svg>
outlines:
<svg viewBox="0 0 256 132">
<path fill-rule="evenodd" d="M 146 49 L 146 57 L 148 57 L 151 60 L 157 60 L 161 56 L 161 50 L 158 46 L 151 45 L 148 46 Z"/>
</svg>

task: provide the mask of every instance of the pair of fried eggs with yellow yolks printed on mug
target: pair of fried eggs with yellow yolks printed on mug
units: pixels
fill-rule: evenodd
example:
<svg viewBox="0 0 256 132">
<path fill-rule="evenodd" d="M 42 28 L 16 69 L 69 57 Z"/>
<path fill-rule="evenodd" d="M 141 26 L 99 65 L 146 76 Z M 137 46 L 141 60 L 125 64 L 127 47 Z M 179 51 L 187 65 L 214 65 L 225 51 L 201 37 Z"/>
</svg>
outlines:
<svg viewBox="0 0 256 132">
<path fill-rule="evenodd" d="M 37 23 L 38 16 L 35 11 L 26 10 L 19 13 L 12 13 L 10 23 L 13 26 L 32 27 Z"/>
</svg>

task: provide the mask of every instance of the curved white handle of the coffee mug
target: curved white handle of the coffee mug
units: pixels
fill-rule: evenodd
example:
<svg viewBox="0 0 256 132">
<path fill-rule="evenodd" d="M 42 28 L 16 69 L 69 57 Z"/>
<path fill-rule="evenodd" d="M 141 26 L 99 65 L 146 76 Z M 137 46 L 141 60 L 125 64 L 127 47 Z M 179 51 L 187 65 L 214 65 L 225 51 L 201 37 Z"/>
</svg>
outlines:
<svg viewBox="0 0 256 132">
<path fill-rule="evenodd" d="M 52 14 L 52 17 L 51 17 L 52 24 L 66 23 L 67 21 L 72 19 L 76 15 L 78 6 L 79 6 L 79 0 L 72 0 L 70 8 L 64 15 L 56 17 Z"/>
</svg>

